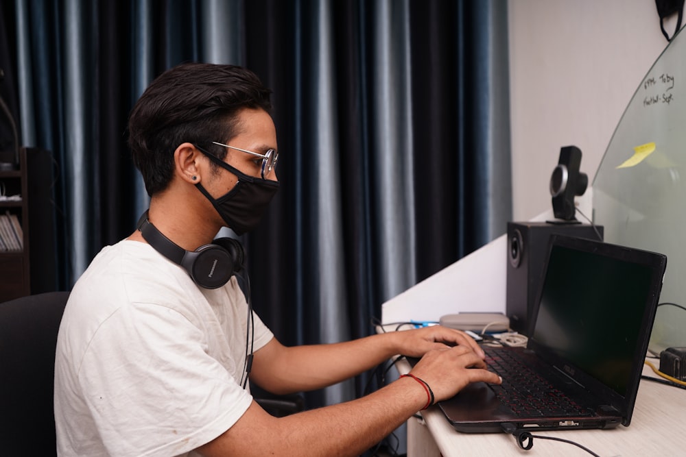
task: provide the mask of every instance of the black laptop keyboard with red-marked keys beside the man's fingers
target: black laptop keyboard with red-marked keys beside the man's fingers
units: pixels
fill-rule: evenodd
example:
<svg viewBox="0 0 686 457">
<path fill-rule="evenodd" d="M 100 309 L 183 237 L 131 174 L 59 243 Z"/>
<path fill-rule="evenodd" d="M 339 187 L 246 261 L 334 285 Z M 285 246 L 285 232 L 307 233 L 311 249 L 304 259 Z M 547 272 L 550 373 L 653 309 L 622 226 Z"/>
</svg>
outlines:
<svg viewBox="0 0 686 457">
<path fill-rule="evenodd" d="M 491 351 L 484 347 L 488 369 L 503 378 L 492 385 L 500 402 L 519 417 L 591 416 L 541 375 L 530 370 L 515 351 Z"/>
</svg>

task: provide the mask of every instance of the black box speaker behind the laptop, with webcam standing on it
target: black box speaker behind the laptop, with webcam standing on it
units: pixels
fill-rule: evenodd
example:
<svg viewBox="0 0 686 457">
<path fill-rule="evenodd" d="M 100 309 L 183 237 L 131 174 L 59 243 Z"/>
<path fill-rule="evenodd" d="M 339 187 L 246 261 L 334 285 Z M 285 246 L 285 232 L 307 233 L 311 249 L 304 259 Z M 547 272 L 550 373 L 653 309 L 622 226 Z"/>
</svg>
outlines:
<svg viewBox="0 0 686 457">
<path fill-rule="evenodd" d="M 598 230 L 598 232 L 596 232 Z M 506 314 L 512 330 L 530 335 L 530 317 L 543 281 L 548 240 L 552 234 L 602 241 L 603 227 L 587 224 L 508 222 Z"/>
</svg>

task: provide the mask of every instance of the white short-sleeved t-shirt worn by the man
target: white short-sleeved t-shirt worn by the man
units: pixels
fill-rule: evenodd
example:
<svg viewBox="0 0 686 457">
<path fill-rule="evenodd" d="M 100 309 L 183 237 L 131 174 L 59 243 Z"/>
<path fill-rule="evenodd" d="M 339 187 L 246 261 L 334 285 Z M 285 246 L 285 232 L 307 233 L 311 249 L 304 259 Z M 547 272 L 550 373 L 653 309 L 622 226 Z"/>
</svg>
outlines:
<svg viewBox="0 0 686 457">
<path fill-rule="evenodd" d="M 257 351 L 273 334 L 253 316 Z M 102 249 L 60 325 L 58 454 L 185 456 L 215 439 L 252 402 L 247 327 L 236 277 L 204 289 L 145 243 Z"/>
</svg>

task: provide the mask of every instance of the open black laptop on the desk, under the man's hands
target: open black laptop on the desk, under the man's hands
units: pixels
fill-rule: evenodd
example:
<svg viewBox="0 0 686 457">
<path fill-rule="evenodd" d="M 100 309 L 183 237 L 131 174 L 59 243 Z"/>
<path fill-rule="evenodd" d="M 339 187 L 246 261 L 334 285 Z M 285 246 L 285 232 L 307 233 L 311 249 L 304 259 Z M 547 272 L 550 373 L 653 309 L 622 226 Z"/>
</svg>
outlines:
<svg viewBox="0 0 686 457">
<path fill-rule="evenodd" d="M 628 426 L 666 265 L 662 254 L 552 236 L 527 346 L 484 345 L 503 384 L 470 384 L 438 406 L 460 432 Z"/>
</svg>

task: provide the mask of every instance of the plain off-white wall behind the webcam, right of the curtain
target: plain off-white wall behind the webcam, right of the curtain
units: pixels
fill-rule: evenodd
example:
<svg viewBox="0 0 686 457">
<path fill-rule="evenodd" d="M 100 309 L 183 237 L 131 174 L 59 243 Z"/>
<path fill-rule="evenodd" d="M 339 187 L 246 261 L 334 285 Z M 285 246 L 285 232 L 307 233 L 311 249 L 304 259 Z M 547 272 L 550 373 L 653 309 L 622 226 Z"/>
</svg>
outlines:
<svg viewBox="0 0 686 457">
<path fill-rule="evenodd" d="M 551 206 L 560 147 L 581 149 L 591 185 L 667 40 L 653 0 L 508 0 L 508 10 L 513 217 L 525 221 Z M 665 23 L 670 36 L 675 25 Z"/>
</svg>

